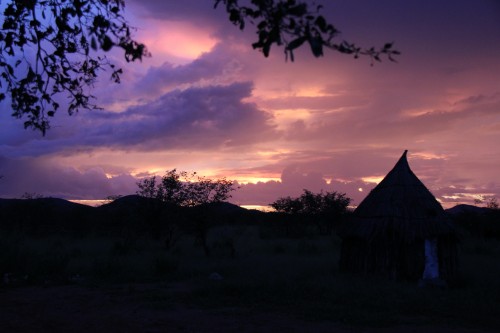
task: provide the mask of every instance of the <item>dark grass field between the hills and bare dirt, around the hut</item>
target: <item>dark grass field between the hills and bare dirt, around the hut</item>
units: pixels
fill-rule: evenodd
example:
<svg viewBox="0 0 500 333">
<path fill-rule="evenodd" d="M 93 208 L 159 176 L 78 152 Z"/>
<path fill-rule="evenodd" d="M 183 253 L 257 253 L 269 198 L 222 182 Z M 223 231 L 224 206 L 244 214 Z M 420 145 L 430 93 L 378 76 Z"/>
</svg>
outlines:
<svg viewBox="0 0 500 333">
<path fill-rule="evenodd" d="M 244 308 L 352 326 L 500 327 L 500 242 L 464 237 L 460 278 L 447 289 L 340 273 L 340 240 L 261 237 L 257 226 L 216 227 L 206 257 L 195 238 L 171 250 L 148 237 L 0 237 L 1 288 L 134 283 L 182 285 L 142 295 L 155 308 Z M 235 250 L 233 256 L 232 250 Z M 210 276 L 217 273 L 219 279 Z M 213 277 L 213 276 L 212 276 Z"/>
</svg>

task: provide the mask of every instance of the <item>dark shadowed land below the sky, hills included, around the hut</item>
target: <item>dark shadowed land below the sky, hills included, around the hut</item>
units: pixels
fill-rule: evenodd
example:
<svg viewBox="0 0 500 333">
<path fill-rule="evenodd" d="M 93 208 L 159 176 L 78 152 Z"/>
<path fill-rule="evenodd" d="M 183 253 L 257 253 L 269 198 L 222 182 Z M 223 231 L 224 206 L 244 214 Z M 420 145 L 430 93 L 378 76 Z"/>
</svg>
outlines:
<svg viewBox="0 0 500 333">
<path fill-rule="evenodd" d="M 457 215 L 460 274 L 422 289 L 341 272 L 340 238 L 312 220 L 136 199 L 0 200 L 0 333 L 500 328 L 496 211 Z"/>
</svg>

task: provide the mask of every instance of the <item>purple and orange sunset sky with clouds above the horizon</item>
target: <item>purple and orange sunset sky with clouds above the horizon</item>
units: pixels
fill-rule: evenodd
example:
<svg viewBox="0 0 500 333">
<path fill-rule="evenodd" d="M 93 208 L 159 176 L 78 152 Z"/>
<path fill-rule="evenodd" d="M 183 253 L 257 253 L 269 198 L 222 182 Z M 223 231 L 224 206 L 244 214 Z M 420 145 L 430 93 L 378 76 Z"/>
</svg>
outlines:
<svg viewBox="0 0 500 333">
<path fill-rule="evenodd" d="M 360 46 L 394 42 L 397 63 L 302 47 L 265 58 L 211 0 L 128 0 L 152 53 L 102 73 L 102 110 L 59 111 L 45 137 L 0 105 L 0 197 L 134 194 L 165 171 L 235 180 L 231 202 L 266 205 L 303 189 L 357 205 L 405 149 L 447 208 L 500 198 L 500 2 L 317 0 Z"/>
</svg>

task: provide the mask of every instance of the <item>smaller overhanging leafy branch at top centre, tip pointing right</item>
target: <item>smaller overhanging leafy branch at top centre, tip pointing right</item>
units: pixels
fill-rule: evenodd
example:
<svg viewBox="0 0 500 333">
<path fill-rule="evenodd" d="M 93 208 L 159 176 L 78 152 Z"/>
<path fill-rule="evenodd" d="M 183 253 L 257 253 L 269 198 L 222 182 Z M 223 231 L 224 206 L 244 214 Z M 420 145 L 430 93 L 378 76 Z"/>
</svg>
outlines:
<svg viewBox="0 0 500 333">
<path fill-rule="evenodd" d="M 320 15 L 322 6 L 296 0 L 252 0 L 250 4 L 240 5 L 239 0 L 215 0 L 215 7 L 225 5 L 229 20 L 244 29 L 247 22 L 257 28 L 258 39 L 252 44 L 254 49 L 269 56 L 271 46 L 283 46 L 286 58 L 294 61 L 295 49 L 308 44 L 315 57 L 323 56 L 324 49 L 340 53 L 368 56 L 381 61 L 382 56 L 395 61 L 400 52 L 394 50 L 393 43 L 385 43 L 380 48 L 362 48 L 345 40 L 337 42 L 340 34 L 331 23 Z"/>
</svg>

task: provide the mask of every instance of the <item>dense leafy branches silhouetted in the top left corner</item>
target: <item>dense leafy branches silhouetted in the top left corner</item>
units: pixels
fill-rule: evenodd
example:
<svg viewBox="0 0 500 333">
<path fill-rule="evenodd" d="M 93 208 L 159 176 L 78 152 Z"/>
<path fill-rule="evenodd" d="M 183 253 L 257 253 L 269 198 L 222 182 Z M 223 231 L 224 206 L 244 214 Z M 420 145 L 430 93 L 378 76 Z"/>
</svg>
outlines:
<svg viewBox="0 0 500 333">
<path fill-rule="evenodd" d="M 89 90 L 100 70 L 120 82 L 122 69 L 93 51 L 123 50 L 126 61 L 148 56 L 132 39 L 122 15 L 124 0 L 16 0 L 6 5 L 0 30 L 0 101 L 10 97 L 12 116 L 45 134 L 69 97 L 68 113 L 94 109 Z"/>
</svg>

